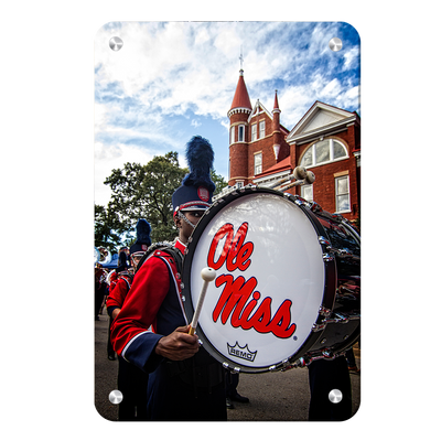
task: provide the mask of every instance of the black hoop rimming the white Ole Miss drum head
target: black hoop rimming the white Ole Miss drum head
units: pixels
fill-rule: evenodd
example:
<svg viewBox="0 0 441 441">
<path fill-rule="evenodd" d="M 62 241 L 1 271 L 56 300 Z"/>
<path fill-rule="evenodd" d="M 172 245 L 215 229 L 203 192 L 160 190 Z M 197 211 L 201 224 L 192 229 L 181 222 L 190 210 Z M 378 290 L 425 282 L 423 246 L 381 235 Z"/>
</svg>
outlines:
<svg viewBox="0 0 441 441">
<path fill-rule="evenodd" d="M 313 225 L 315 233 L 318 234 L 318 240 L 319 237 L 322 236 L 326 240 L 330 240 L 324 227 L 320 223 L 320 220 L 316 218 L 314 213 L 311 212 L 311 209 L 302 203 L 301 197 L 288 193 L 281 193 L 277 190 L 271 190 L 271 189 L 265 189 L 265 187 L 241 187 L 238 191 L 234 191 L 232 193 L 228 193 L 222 197 L 219 197 L 217 201 L 215 201 L 209 208 L 207 208 L 204 213 L 204 215 L 201 217 L 200 222 L 196 225 L 196 228 L 194 228 L 191 237 L 189 238 L 189 245 L 185 251 L 185 257 L 184 257 L 184 262 L 183 262 L 183 289 L 182 289 L 182 294 L 183 294 L 183 303 L 184 303 L 184 309 L 185 309 L 185 314 L 187 319 L 193 316 L 194 313 L 194 305 L 193 305 L 193 300 L 191 295 L 191 269 L 192 269 L 192 262 L 193 262 L 193 255 L 195 252 L 195 246 L 198 243 L 201 236 L 205 232 L 206 226 L 208 223 L 212 220 L 212 218 L 220 211 L 223 209 L 228 203 L 235 201 L 236 198 L 243 197 L 248 194 L 254 194 L 254 193 L 267 193 L 267 194 L 275 194 L 277 196 L 281 196 L 287 201 L 290 201 L 291 203 L 295 204 L 298 207 L 300 207 L 303 213 L 306 215 L 306 217 L 310 219 L 311 224 Z M 326 249 L 323 244 L 322 245 L 322 250 L 323 254 L 325 254 Z M 321 313 L 321 311 L 330 311 L 334 306 L 334 299 L 335 299 L 335 291 L 336 291 L 336 263 L 335 260 L 323 260 L 324 263 L 324 288 L 323 288 L 323 297 L 322 297 L 322 305 L 320 306 L 318 311 L 318 318 L 315 321 L 315 324 L 320 325 L 325 318 L 329 315 L 329 313 Z M 312 330 L 311 330 L 312 331 Z M 322 331 L 323 332 L 323 331 Z M 291 355 L 288 359 L 281 361 L 278 364 L 275 365 L 269 365 L 269 366 L 263 366 L 263 367 L 250 367 L 250 366 L 245 366 L 240 363 L 233 362 L 228 358 L 225 358 L 223 354 L 220 354 L 217 348 L 212 344 L 212 342 L 206 337 L 201 324 L 197 324 L 196 329 L 196 334 L 198 335 L 203 347 L 209 347 L 211 351 L 207 351 L 214 358 L 216 358 L 219 363 L 223 364 L 225 368 L 228 368 L 234 372 L 240 372 L 240 373 L 247 373 L 247 374 L 260 374 L 260 373 L 266 373 L 266 372 L 276 372 L 280 370 L 281 368 L 286 367 L 287 365 L 293 363 L 295 359 L 299 359 L 303 354 L 305 354 L 310 347 L 314 345 L 314 343 L 319 340 L 320 335 L 322 332 L 314 332 L 310 334 L 310 336 L 306 338 L 306 341 L 303 343 L 302 346 L 299 347 L 295 354 Z M 312 336 L 312 338 L 311 338 Z M 228 363 L 226 363 L 227 361 Z"/>
</svg>

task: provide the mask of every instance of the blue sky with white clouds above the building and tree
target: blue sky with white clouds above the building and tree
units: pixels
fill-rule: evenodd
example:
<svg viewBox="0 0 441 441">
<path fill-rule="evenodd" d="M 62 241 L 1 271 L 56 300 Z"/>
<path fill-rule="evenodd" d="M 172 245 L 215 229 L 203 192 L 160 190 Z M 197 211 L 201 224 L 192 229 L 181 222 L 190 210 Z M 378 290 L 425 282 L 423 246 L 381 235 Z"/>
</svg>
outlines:
<svg viewBox="0 0 441 441">
<path fill-rule="evenodd" d="M 120 51 L 109 40 L 123 41 Z M 340 37 L 338 52 L 329 47 Z M 244 56 L 251 105 L 272 110 L 291 130 L 315 100 L 364 117 L 363 32 L 354 21 L 109 19 L 90 41 L 92 191 L 106 205 L 104 185 L 125 162 L 147 163 L 207 138 L 217 173 L 228 176 L 228 117 Z"/>
</svg>

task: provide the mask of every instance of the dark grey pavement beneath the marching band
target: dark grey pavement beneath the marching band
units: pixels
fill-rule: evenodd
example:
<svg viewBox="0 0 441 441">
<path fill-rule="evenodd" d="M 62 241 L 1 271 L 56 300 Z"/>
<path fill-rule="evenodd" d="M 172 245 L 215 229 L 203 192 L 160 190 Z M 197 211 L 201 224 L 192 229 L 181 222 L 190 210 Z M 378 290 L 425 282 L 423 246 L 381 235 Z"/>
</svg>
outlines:
<svg viewBox="0 0 441 441">
<path fill-rule="evenodd" d="M 95 326 L 95 365 L 93 366 L 92 407 L 95 417 L 107 424 L 118 424 L 118 405 L 109 401 L 111 390 L 118 389 L 118 361 L 107 358 L 109 316 L 106 309 Z M 364 367 L 364 349 L 354 346 L 357 367 Z M 227 410 L 228 424 L 306 424 L 310 404 L 308 368 L 292 368 L 284 373 L 239 374 L 237 391 L 249 398 L 249 404 L 234 401 Z M 353 419 L 364 406 L 364 374 L 351 373 Z"/>
</svg>

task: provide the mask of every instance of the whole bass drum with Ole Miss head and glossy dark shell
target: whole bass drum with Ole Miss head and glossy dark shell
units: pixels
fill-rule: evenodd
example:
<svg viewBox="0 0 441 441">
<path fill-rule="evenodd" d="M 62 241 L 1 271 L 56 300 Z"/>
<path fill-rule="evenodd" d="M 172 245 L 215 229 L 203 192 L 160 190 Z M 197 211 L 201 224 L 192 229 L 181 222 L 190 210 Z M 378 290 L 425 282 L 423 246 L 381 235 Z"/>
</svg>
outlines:
<svg viewBox="0 0 441 441">
<path fill-rule="evenodd" d="M 194 229 L 183 263 L 185 312 L 193 316 L 201 270 L 214 268 L 196 334 L 224 367 L 256 374 L 304 365 L 341 355 L 361 335 L 362 298 L 351 283 L 363 273 L 349 275 L 347 265 L 359 244 L 341 219 L 309 206 L 287 193 L 244 187 L 215 201 Z M 358 257 L 352 272 L 363 270 Z"/>
</svg>

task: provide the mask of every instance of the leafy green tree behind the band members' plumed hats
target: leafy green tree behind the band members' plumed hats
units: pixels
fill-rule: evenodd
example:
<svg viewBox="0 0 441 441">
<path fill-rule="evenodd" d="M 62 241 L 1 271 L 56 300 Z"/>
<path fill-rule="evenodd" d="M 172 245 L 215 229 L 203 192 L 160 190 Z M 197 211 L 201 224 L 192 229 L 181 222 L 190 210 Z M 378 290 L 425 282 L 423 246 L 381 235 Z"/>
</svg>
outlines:
<svg viewBox="0 0 441 441">
<path fill-rule="evenodd" d="M 112 229 L 118 234 L 133 232 L 138 219 L 143 217 L 152 227 L 152 243 L 173 240 L 176 229 L 172 194 L 186 173 L 187 169 L 179 166 L 178 152 L 154 157 L 146 165 L 127 162 L 123 169 L 114 169 L 104 182 L 112 191 L 107 209 L 114 216 Z M 216 183 L 216 191 L 226 185 L 225 180 L 214 171 L 212 179 Z"/>
</svg>

